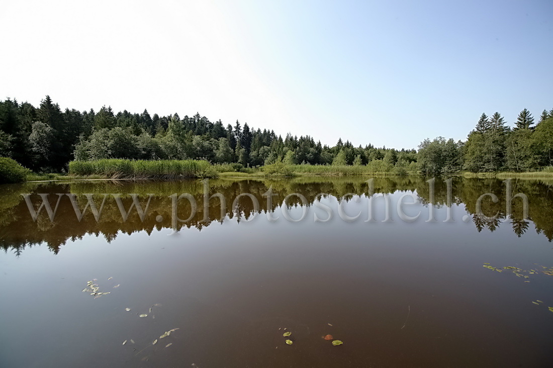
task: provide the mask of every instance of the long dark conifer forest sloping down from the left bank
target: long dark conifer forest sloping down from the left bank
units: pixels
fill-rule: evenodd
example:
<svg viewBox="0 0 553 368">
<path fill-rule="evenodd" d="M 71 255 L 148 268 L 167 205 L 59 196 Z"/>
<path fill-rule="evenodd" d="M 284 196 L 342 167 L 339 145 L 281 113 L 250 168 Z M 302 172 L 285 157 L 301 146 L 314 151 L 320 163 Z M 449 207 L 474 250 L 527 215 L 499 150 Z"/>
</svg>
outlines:
<svg viewBox="0 0 553 368">
<path fill-rule="evenodd" d="M 342 139 L 328 147 L 311 136 L 289 133 L 283 139 L 273 130 L 254 129 L 238 120 L 225 127 L 221 120 L 211 122 L 199 113 L 183 118 L 178 113 L 150 116 L 148 110 L 114 113 L 109 106 L 98 112 L 61 111 L 50 96 L 38 107 L 11 99 L 0 102 L 0 156 L 39 171 L 62 170 L 74 159 L 207 159 L 257 167 L 277 161 L 367 164 L 387 155 L 393 164 L 398 159 L 416 161 L 415 149 L 354 147 Z"/>
</svg>

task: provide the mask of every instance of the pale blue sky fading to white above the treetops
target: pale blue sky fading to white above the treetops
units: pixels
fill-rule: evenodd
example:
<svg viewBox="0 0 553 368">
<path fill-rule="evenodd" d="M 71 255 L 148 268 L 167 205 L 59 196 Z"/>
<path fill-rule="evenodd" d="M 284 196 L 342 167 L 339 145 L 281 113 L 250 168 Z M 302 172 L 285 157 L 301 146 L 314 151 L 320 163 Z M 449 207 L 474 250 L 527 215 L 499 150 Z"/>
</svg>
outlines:
<svg viewBox="0 0 553 368">
<path fill-rule="evenodd" d="M 333 146 L 553 109 L 553 1 L 4 2 L 0 98 L 199 112 Z"/>
</svg>

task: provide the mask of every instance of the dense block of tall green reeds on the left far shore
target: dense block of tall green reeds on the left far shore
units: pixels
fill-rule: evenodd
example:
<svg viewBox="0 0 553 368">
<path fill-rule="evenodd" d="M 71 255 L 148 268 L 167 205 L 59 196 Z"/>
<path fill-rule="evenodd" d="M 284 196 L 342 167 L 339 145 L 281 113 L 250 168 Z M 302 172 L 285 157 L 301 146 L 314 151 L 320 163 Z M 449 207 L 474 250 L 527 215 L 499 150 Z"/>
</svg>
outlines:
<svg viewBox="0 0 553 368">
<path fill-rule="evenodd" d="M 217 171 L 206 160 L 125 160 L 72 161 L 70 175 L 102 175 L 106 178 L 176 179 L 216 178 Z"/>
</svg>

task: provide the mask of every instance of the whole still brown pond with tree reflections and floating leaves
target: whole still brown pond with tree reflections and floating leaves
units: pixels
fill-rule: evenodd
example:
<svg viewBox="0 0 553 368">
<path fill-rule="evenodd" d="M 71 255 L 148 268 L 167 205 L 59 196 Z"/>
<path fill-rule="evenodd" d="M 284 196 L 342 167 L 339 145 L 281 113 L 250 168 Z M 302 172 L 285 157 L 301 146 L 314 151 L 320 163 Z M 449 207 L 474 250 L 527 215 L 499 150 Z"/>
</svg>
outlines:
<svg viewBox="0 0 553 368">
<path fill-rule="evenodd" d="M 434 194 L 427 178 L 374 179 L 393 221 L 382 222 L 378 198 L 376 221 L 365 222 L 367 179 L 211 180 L 210 195 L 221 193 L 227 208 L 221 218 L 212 199 L 206 221 L 200 180 L 0 186 L 0 366 L 551 366 L 553 186 L 513 180 L 513 193 L 528 196 L 526 221 L 521 199 L 513 200 L 513 219 L 504 218 L 499 180 L 453 179 L 448 200 L 443 178 Z M 279 194 L 270 205 L 269 187 Z M 67 195 L 53 221 L 44 208 L 33 221 L 22 193 L 32 194 L 34 209 L 38 193 L 49 193 L 52 208 L 56 193 L 75 194 L 80 210 L 87 193 L 98 208 L 102 193 L 120 193 L 126 210 L 128 194 L 137 193 L 143 209 L 153 196 L 144 221 L 135 209 L 123 221 L 111 195 L 98 222 L 90 209 L 78 221 Z M 190 193 L 198 210 L 176 234 L 174 193 Z M 246 196 L 231 209 L 241 193 L 259 210 Z M 283 203 L 290 193 L 306 204 L 298 196 Z M 476 214 L 484 193 L 498 196 L 482 200 L 486 216 Z M 397 212 L 404 194 L 415 196 L 405 214 L 421 212 L 413 222 Z M 343 220 L 338 200 L 347 216 L 361 216 Z M 322 205 L 333 218 L 315 222 L 315 214 L 327 218 Z M 435 222 L 426 221 L 430 209 Z M 190 210 L 178 201 L 181 219 Z M 291 222 L 283 210 L 307 215 Z M 447 211 L 453 221 L 444 222 Z M 93 279 L 111 293 L 81 292 Z M 322 339 L 327 334 L 343 345 Z"/>
</svg>

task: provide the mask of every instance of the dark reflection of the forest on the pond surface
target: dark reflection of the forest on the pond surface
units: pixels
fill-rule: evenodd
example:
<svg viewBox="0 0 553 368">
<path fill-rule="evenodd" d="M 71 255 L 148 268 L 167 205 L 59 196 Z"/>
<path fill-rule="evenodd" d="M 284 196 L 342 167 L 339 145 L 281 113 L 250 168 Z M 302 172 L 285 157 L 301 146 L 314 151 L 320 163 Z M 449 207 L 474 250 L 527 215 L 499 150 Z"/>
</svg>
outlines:
<svg viewBox="0 0 553 368">
<path fill-rule="evenodd" d="M 154 230 L 169 229 L 172 203 L 170 195 L 189 193 L 197 203 L 197 211 L 191 216 L 190 221 L 178 222 L 177 230 L 182 227 L 194 227 L 202 230 L 215 222 L 228 220 L 249 220 L 254 214 L 266 214 L 274 212 L 280 206 L 287 209 L 305 205 L 310 208 L 315 201 L 322 198 L 334 197 L 346 202 L 352 200 L 353 195 L 364 197 L 371 196 L 368 178 L 294 178 L 280 180 L 264 179 L 217 179 L 209 182 L 208 193 L 213 195 L 220 193 L 226 199 L 226 208 L 221 211 L 220 199 L 212 198 L 208 202 L 207 214 L 204 208 L 204 183 L 201 180 L 187 180 L 179 182 L 70 182 L 70 183 L 26 183 L 20 185 L 3 185 L 0 194 L 0 245 L 6 251 L 13 251 L 16 255 L 25 247 L 39 243 L 47 243 L 51 251 L 57 253 L 60 246 L 67 240 L 81 239 L 86 234 L 105 237 L 107 242 L 114 240 L 118 234 L 132 234 L 137 231 L 145 231 L 151 234 Z M 507 217 L 505 198 L 506 185 L 496 179 L 451 179 L 451 193 L 448 196 L 446 178 L 436 178 L 434 181 L 434 193 L 431 185 L 424 177 L 406 178 L 375 178 L 374 193 L 415 193 L 418 201 L 424 206 L 435 208 L 464 205 L 467 214 L 470 215 L 474 229 L 478 232 L 487 229 L 495 231 L 499 227 L 511 226 L 517 236 L 522 236 L 533 224 L 539 234 L 543 234 L 547 240 L 553 239 L 553 193 L 551 183 L 542 180 L 513 180 L 512 193 L 524 193 L 528 196 L 528 220 L 524 219 L 523 201 L 512 201 L 512 215 L 510 221 L 503 221 Z M 272 201 L 268 201 L 267 191 L 272 189 Z M 36 221 L 33 221 L 28 206 L 22 193 L 32 194 L 29 198 L 34 209 L 38 209 L 41 198 L 38 193 L 48 193 L 49 203 L 52 209 L 59 205 L 55 212 L 54 220 L 50 221 L 46 210 L 43 208 Z M 121 193 L 121 203 L 124 211 L 132 207 L 133 199 L 129 194 L 138 194 L 139 203 L 143 209 L 151 194 L 147 214 L 140 219 L 135 208 L 131 209 L 128 218 L 124 220 L 125 213 L 117 205 L 113 196 L 106 196 L 105 204 L 101 211 L 99 221 L 96 221 L 90 208 L 79 221 L 75 208 L 69 196 L 59 198 L 56 194 L 74 194 L 76 205 L 82 211 L 87 204 L 85 194 L 93 194 L 98 209 L 106 193 Z M 257 200 L 259 208 L 256 209 L 252 198 L 242 196 L 248 193 Z M 302 204 L 301 196 L 290 195 L 298 193 L 306 199 Z M 484 193 L 497 195 L 498 201 L 494 203 L 490 196 L 481 201 L 482 213 L 477 211 L 477 201 Z M 288 196 L 288 197 L 287 197 Z M 318 196 L 318 197 L 317 197 Z M 287 197 L 287 198 L 286 198 Z M 449 197 L 449 198 L 448 198 Z M 286 198 L 286 200 L 283 200 Z M 232 208 L 233 201 L 237 200 L 237 207 Z M 272 203 L 271 203 L 272 202 Z M 178 202 L 178 216 L 186 219 L 192 212 L 190 201 Z M 283 219 L 281 219 L 282 221 Z M 364 219 L 363 219 L 364 220 Z M 363 220 L 359 219 L 359 222 Z M 458 219 L 459 221 L 460 219 Z M 419 221 L 424 221 L 419 219 Z"/>
</svg>

